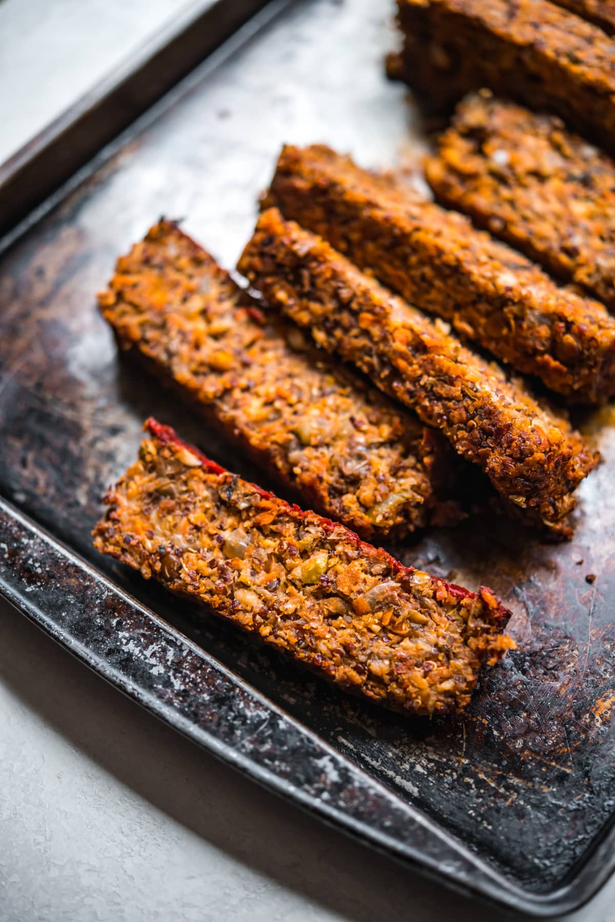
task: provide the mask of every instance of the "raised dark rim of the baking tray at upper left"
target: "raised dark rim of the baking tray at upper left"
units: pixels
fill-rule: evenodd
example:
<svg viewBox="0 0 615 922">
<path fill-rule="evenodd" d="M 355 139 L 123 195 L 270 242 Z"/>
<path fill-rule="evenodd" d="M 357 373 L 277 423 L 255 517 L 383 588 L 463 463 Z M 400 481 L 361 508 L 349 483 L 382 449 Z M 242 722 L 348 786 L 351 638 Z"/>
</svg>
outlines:
<svg viewBox="0 0 615 922">
<path fill-rule="evenodd" d="M 113 140 L 242 30 L 292 0 L 188 0 L 132 53 L 0 162 L 0 253 L 101 162 Z M 215 28 L 212 28 L 215 27 Z M 195 38 L 196 36 L 196 38 Z M 199 36 L 202 36 L 199 39 Z M 104 160 L 112 156 L 108 151 Z M 83 168 L 87 172 L 82 173 Z M 77 180 L 77 183 L 75 182 Z"/>
</svg>

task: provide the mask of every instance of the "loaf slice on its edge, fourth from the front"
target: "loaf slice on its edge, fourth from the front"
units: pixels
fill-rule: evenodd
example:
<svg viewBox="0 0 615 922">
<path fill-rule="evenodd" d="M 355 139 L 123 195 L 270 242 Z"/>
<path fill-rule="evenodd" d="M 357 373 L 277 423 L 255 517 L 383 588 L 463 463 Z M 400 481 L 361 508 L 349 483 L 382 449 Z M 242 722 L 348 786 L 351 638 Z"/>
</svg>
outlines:
<svg viewBox="0 0 615 922">
<path fill-rule="evenodd" d="M 266 199 L 422 310 L 571 401 L 615 393 L 615 318 L 395 177 L 283 148 Z"/>
</svg>

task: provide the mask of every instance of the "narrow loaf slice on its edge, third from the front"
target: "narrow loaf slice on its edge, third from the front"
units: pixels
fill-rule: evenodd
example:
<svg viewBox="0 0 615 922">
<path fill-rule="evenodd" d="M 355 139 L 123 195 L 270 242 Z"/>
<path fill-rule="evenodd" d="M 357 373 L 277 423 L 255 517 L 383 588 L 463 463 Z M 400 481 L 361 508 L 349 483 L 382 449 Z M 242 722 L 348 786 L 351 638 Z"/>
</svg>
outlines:
<svg viewBox="0 0 615 922">
<path fill-rule="evenodd" d="M 566 420 L 416 308 L 365 276 L 321 238 L 264 212 L 239 263 L 266 301 L 353 361 L 385 393 L 444 431 L 505 498 L 550 525 L 597 463 Z"/>
</svg>

